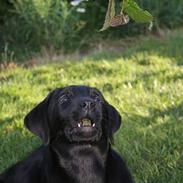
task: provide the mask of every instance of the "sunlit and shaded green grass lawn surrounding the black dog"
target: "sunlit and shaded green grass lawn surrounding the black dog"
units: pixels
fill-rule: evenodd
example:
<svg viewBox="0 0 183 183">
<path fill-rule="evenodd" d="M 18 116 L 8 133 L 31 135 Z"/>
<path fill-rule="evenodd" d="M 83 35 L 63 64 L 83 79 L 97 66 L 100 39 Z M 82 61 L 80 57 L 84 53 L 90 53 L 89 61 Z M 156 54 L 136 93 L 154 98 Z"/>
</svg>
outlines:
<svg viewBox="0 0 183 183">
<path fill-rule="evenodd" d="M 114 146 L 137 183 L 183 182 L 183 30 L 123 52 L 0 71 L 0 172 L 41 144 L 23 127 L 26 113 L 71 84 L 99 88 L 121 112 Z"/>
</svg>

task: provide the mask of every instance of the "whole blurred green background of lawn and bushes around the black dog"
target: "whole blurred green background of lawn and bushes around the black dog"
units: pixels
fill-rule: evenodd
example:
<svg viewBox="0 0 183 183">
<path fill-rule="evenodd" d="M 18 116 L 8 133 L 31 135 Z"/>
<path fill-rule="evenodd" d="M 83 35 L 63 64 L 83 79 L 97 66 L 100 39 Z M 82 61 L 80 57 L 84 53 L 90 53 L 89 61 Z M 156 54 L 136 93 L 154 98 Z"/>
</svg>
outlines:
<svg viewBox="0 0 183 183">
<path fill-rule="evenodd" d="M 86 84 L 122 114 L 114 148 L 136 182 L 183 182 L 183 1 L 139 0 L 152 32 L 131 21 L 101 33 L 107 3 L 0 0 L 0 172 L 41 144 L 27 112 L 56 87 Z"/>
</svg>

